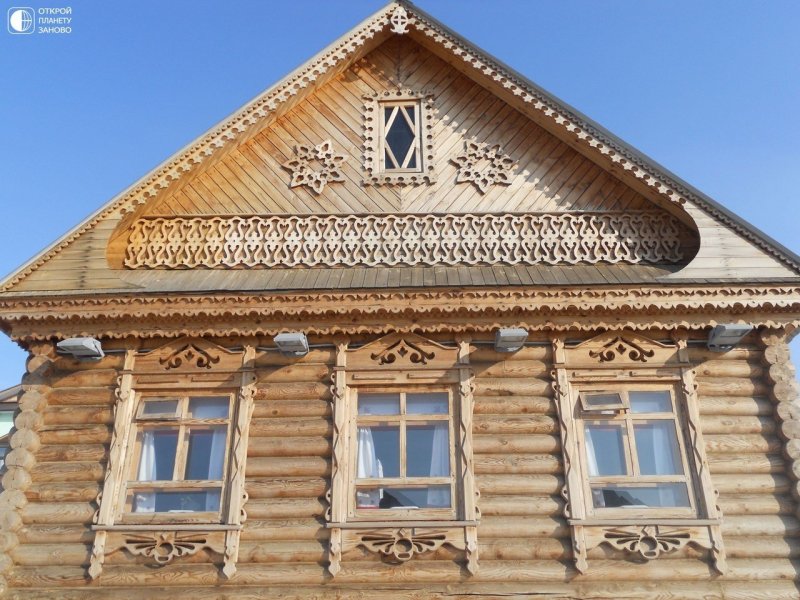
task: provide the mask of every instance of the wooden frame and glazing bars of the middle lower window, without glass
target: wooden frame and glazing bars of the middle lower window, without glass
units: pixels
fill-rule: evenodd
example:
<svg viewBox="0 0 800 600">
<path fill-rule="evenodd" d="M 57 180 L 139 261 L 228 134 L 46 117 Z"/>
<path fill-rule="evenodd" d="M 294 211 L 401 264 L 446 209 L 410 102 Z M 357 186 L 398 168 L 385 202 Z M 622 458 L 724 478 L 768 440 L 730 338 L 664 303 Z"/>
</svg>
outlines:
<svg viewBox="0 0 800 600">
<path fill-rule="evenodd" d="M 436 393 L 447 392 L 448 395 L 448 412 L 446 415 L 409 415 L 404 412 L 406 405 L 405 398 L 409 393 Z M 454 421 L 457 419 L 457 402 L 455 398 L 455 390 L 453 386 L 447 385 L 386 385 L 386 386 L 351 386 L 351 393 L 353 394 L 351 427 L 348 435 L 354 443 L 350 448 L 350 460 L 348 461 L 349 467 L 349 485 L 348 485 L 348 502 L 347 502 L 347 520 L 348 522 L 375 522 L 377 521 L 402 521 L 402 520 L 425 520 L 425 521 L 452 521 L 458 518 L 459 505 L 460 505 L 460 490 L 457 482 L 458 468 L 457 468 L 457 440 L 455 438 Z M 400 396 L 400 409 L 397 415 L 371 415 L 363 418 L 363 415 L 358 414 L 358 399 L 360 394 L 368 393 L 397 393 Z M 434 417 L 431 419 L 431 417 Z M 386 418 L 389 417 L 389 418 Z M 431 420 L 447 421 L 448 424 L 448 453 L 449 453 L 449 467 L 450 475 L 442 478 L 431 477 L 402 477 L 403 465 L 406 462 L 405 451 L 407 449 L 407 436 L 403 435 L 403 431 L 407 432 L 408 422 L 430 422 Z M 357 475 L 358 468 L 358 427 L 361 423 L 392 421 L 400 425 L 399 434 L 399 464 L 400 473 L 399 477 L 385 477 L 385 478 L 370 478 L 363 483 L 363 479 L 359 480 Z M 450 486 L 450 508 L 359 508 L 356 502 L 356 493 L 361 486 L 371 485 L 373 487 L 423 487 L 423 482 L 420 480 L 447 480 L 442 482 L 431 481 L 428 485 L 447 485 Z M 380 517 L 376 519 L 376 517 Z"/>
</svg>

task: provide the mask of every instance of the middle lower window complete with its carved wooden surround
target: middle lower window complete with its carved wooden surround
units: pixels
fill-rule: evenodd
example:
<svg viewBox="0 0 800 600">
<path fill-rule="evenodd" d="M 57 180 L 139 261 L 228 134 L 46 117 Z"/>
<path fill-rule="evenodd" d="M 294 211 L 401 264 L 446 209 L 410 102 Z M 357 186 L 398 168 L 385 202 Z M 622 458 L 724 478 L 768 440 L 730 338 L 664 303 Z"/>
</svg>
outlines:
<svg viewBox="0 0 800 600">
<path fill-rule="evenodd" d="M 328 571 L 362 548 L 403 563 L 448 545 L 478 568 L 469 343 L 389 334 L 337 345 Z"/>
</svg>

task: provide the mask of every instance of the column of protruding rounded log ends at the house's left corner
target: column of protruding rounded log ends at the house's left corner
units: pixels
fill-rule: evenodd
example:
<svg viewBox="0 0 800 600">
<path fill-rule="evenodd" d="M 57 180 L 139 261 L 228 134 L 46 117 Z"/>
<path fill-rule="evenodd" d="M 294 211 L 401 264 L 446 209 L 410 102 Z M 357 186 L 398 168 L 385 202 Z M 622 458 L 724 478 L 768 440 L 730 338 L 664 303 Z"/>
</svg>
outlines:
<svg viewBox="0 0 800 600">
<path fill-rule="evenodd" d="M 11 451 L 5 457 L 3 491 L 0 493 L 0 595 L 8 590 L 7 576 L 14 565 L 14 549 L 25 527 L 23 512 L 28 504 L 25 492 L 32 484 L 36 452 L 41 446 L 39 431 L 44 426 L 49 374 L 55 348 L 52 342 L 33 344 L 29 349 L 26 372 L 22 377 L 19 412 L 10 432 Z"/>
</svg>

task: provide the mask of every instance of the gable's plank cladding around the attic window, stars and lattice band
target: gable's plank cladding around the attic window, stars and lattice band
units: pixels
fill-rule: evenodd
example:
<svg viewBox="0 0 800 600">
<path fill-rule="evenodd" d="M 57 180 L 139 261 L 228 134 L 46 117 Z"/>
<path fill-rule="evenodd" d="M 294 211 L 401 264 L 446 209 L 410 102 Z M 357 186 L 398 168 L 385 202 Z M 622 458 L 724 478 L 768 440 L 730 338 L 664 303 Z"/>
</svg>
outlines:
<svg viewBox="0 0 800 600">
<path fill-rule="evenodd" d="M 118 203 L 113 211 L 106 211 L 91 227 L 62 244 L 58 252 L 46 254 L 33 269 L 13 278 L 6 289 L 150 289 L 156 280 L 163 285 L 163 273 L 143 276 L 121 268 L 131 226 L 142 218 L 208 215 L 669 213 L 682 224 L 680 238 L 687 260 L 697 250 L 695 231 L 700 231 L 695 260 L 686 268 L 670 269 L 673 278 L 797 276 L 787 267 L 780 250 L 765 251 L 763 244 L 759 247 L 754 243 L 753 236 L 723 223 L 719 213 L 673 193 L 661 183 L 669 178 L 667 175 L 662 173 L 658 180 L 642 183 L 646 178 L 641 169 L 620 168 L 624 165 L 612 160 L 618 157 L 607 145 L 593 146 L 597 148 L 593 153 L 591 147 L 576 142 L 573 133 L 577 126 L 567 124 L 564 131 L 556 126 L 563 125 L 559 123 L 563 120 L 560 114 L 555 124 L 544 118 L 553 116 L 548 111 L 555 114 L 552 108 L 544 107 L 544 116 L 537 115 L 537 102 L 515 99 L 508 89 L 511 79 L 498 85 L 497 70 L 475 73 L 480 63 L 459 64 L 452 54 L 452 41 L 442 43 L 442 34 L 434 31 L 438 24 L 426 21 L 422 13 L 413 13 L 410 26 L 400 35 L 395 35 L 385 21 L 379 27 L 392 10 L 390 5 L 366 22 L 367 30 L 380 31 L 368 43 L 358 32 L 346 36 L 351 54 L 341 61 L 338 71 L 321 73 L 317 84 L 292 96 L 291 102 L 275 104 L 271 117 L 258 121 L 257 127 L 251 119 L 249 127 L 238 129 L 238 135 L 237 129 L 229 132 L 228 139 L 233 143 L 220 142 L 219 150 L 207 149 L 206 158 L 181 169 L 160 191 L 142 190 L 138 196 L 131 195 L 125 206 Z M 354 39 L 361 40 L 360 50 L 355 52 Z M 466 60 L 463 54 L 459 56 Z M 363 96 L 398 84 L 433 90 L 437 177 L 429 185 L 365 186 Z M 568 107 L 563 112 L 568 113 Z M 231 121 L 237 119 L 235 115 Z M 326 140 L 346 157 L 341 169 L 343 181 L 326 185 L 319 193 L 306 186 L 289 187 L 291 173 L 283 165 L 292 160 L 295 147 Z M 454 159 L 470 141 L 499 144 L 516 161 L 509 185 L 494 185 L 482 193 L 472 183 L 458 181 Z M 203 144 L 208 147 L 205 139 Z M 679 185 L 675 187 L 680 189 Z M 186 280 L 181 289 L 204 289 L 201 281 L 208 279 L 207 274 L 194 277 L 194 281 L 185 274 L 180 278 Z M 583 281 L 588 283 L 589 279 Z M 648 280 L 652 277 L 643 277 L 643 281 Z"/>
</svg>

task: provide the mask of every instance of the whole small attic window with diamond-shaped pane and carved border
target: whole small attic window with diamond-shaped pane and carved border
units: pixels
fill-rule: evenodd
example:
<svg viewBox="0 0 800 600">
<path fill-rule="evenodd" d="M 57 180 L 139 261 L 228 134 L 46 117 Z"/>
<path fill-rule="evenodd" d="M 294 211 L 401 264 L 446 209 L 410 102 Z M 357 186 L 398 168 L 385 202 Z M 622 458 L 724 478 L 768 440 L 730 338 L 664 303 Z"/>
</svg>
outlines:
<svg viewBox="0 0 800 600">
<path fill-rule="evenodd" d="M 364 185 L 434 183 L 433 94 L 398 89 L 364 100 Z"/>
</svg>

